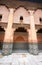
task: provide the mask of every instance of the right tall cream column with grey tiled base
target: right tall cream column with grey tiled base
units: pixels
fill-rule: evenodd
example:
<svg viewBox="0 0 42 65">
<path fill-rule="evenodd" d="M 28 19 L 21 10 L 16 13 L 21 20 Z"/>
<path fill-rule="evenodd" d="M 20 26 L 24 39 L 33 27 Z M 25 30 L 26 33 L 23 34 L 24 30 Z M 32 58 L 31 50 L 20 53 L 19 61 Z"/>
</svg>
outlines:
<svg viewBox="0 0 42 65">
<path fill-rule="evenodd" d="M 30 44 L 31 49 L 30 52 L 33 54 L 38 54 L 38 45 L 37 45 L 37 35 L 36 35 L 36 29 L 35 29 L 35 23 L 34 23 L 34 11 L 29 10 L 30 13 Z"/>
</svg>

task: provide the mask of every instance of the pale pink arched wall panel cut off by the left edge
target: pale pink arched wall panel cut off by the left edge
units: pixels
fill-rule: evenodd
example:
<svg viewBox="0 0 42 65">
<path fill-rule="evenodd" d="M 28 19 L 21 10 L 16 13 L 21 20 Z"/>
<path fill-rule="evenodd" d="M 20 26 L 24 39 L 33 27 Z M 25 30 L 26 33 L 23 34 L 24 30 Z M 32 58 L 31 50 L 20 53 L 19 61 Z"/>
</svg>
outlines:
<svg viewBox="0 0 42 65">
<path fill-rule="evenodd" d="M 2 15 L 1 22 L 8 22 L 9 9 L 5 5 L 0 5 L 0 14 Z"/>
</svg>

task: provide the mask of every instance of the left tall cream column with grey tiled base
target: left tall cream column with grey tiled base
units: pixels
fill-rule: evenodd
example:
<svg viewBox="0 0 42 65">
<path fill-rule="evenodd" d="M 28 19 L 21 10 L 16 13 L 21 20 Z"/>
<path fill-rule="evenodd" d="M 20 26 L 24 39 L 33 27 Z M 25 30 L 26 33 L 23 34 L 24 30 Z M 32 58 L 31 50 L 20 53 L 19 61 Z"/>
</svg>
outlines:
<svg viewBox="0 0 42 65">
<path fill-rule="evenodd" d="M 4 43 L 3 43 L 3 54 L 9 54 L 12 52 L 12 47 L 13 47 L 13 29 L 12 29 L 12 24 L 13 24 L 13 15 L 14 15 L 14 9 L 10 8 L 9 9 L 9 17 L 8 17 L 8 25 L 7 29 L 5 32 L 5 37 L 4 37 Z"/>
</svg>

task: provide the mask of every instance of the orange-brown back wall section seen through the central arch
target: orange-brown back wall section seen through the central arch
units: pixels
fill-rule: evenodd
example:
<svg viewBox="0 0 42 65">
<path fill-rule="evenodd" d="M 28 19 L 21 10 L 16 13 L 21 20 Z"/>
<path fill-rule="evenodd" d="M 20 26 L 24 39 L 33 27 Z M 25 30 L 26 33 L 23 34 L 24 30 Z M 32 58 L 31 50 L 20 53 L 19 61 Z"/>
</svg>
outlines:
<svg viewBox="0 0 42 65">
<path fill-rule="evenodd" d="M 28 34 L 17 32 L 13 37 L 14 42 L 28 42 Z"/>
</svg>

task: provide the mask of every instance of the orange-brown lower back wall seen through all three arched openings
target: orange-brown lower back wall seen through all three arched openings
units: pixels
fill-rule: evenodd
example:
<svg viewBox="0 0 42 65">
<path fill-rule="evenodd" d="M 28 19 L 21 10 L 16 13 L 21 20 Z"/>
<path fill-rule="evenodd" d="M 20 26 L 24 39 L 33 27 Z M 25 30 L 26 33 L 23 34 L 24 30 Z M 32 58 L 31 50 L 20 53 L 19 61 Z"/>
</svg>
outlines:
<svg viewBox="0 0 42 65">
<path fill-rule="evenodd" d="M 0 33 L 0 42 L 4 40 L 4 33 Z M 13 35 L 13 42 L 29 42 L 29 35 L 26 33 L 15 33 Z M 38 43 L 42 43 L 42 34 L 37 34 Z"/>
</svg>

